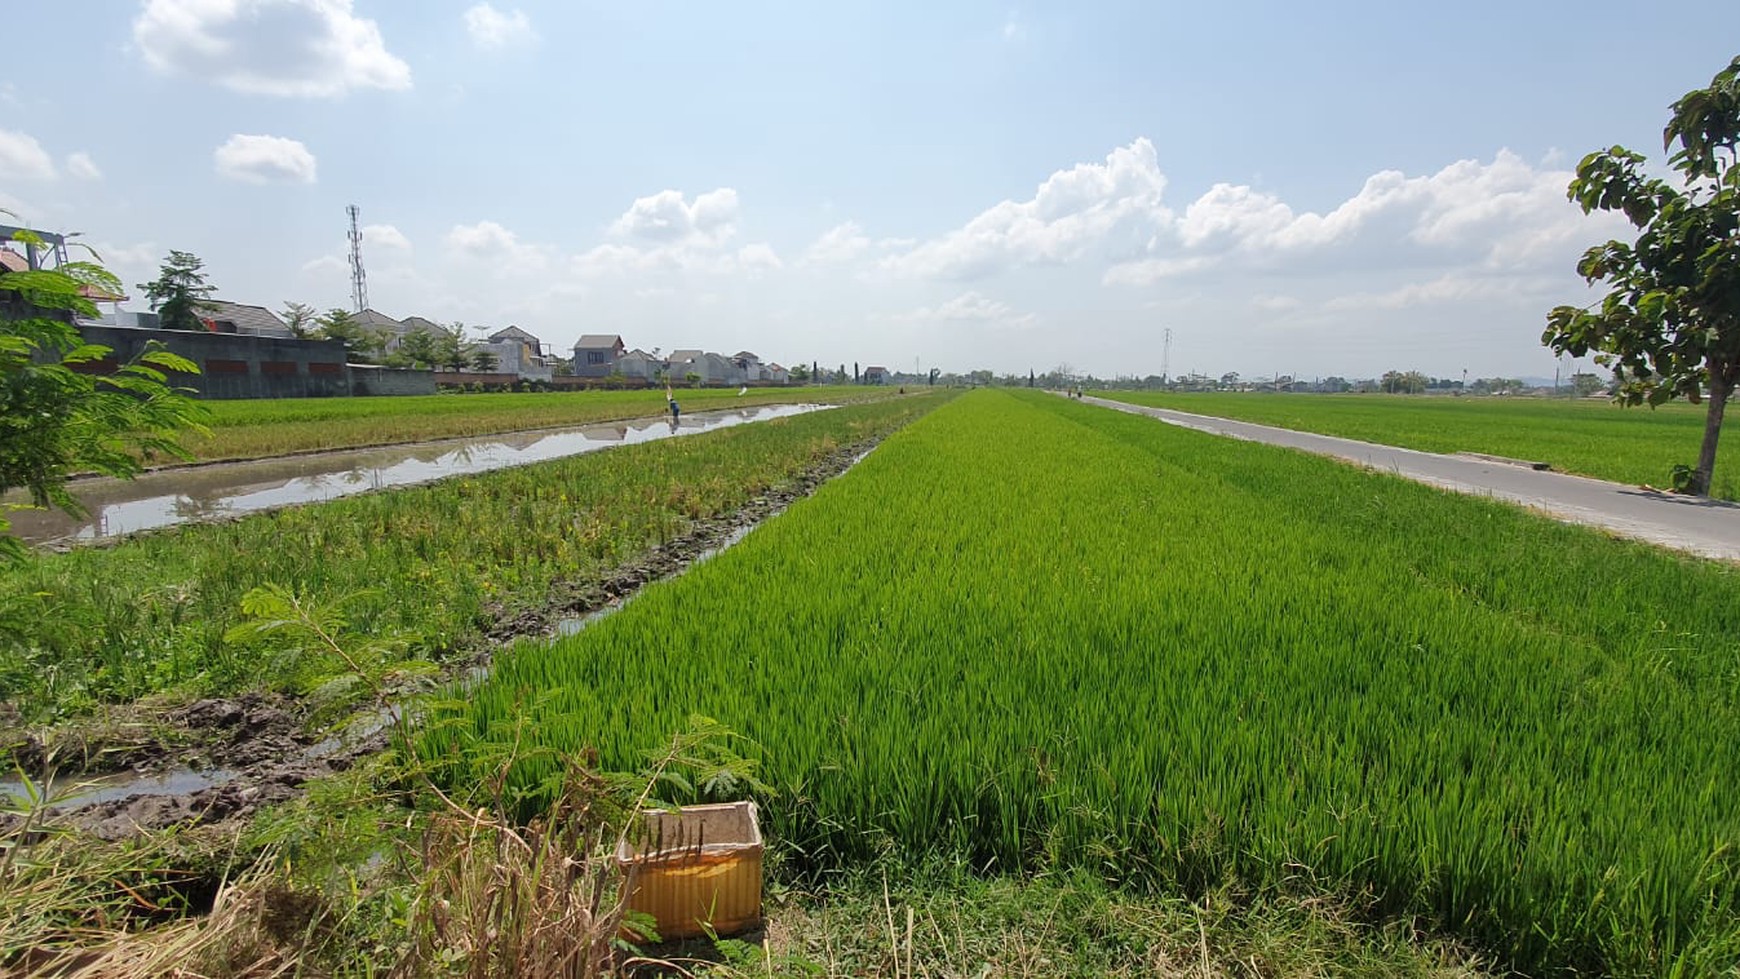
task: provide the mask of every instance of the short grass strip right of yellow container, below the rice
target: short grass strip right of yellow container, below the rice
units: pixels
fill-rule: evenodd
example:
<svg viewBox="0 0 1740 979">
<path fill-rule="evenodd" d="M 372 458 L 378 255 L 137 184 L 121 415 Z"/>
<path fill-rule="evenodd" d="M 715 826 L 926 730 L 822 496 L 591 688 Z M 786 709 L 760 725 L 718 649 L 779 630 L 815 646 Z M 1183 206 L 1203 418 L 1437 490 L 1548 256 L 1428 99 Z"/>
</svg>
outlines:
<svg viewBox="0 0 1740 979">
<path fill-rule="evenodd" d="M 679 955 L 687 949 L 679 949 Z M 898 862 L 820 892 L 774 887 L 759 941 L 720 941 L 696 976 L 1484 976 L 1465 949 L 1406 923 L 1373 929 L 1307 897 L 1138 896 L 1088 873 L 978 878 Z M 686 963 L 687 965 L 687 963 Z"/>
</svg>

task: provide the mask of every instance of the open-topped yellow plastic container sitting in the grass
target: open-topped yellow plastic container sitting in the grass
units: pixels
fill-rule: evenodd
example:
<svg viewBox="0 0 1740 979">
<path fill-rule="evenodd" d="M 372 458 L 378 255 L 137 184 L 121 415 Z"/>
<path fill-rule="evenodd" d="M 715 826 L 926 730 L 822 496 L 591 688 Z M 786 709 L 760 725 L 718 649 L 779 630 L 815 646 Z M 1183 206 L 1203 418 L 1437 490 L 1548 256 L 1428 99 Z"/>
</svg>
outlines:
<svg viewBox="0 0 1740 979">
<path fill-rule="evenodd" d="M 642 835 L 616 847 L 628 909 L 659 939 L 734 936 L 760 923 L 762 838 L 753 802 L 646 812 Z"/>
</svg>

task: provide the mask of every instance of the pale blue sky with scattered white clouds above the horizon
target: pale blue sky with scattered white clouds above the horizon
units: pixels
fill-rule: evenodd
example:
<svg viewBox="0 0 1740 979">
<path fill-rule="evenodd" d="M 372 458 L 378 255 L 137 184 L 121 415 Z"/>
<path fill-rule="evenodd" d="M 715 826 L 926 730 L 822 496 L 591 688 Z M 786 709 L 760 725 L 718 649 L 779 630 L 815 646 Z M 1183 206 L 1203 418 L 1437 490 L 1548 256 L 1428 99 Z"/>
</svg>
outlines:
<svg viewBox="0 0 1740 979">
<path fill-rule="evenodd" d="M 7 16 L 0 207 L 136 283 L 559 348 L 1550 376 L 1583 153 L 1740 5 L 77 0 Z M 1656 153 L 1658 155 L 1658 153 Z M 136 308 L 143 308 L 139 303 Z"/>
</svg>

